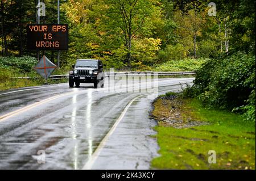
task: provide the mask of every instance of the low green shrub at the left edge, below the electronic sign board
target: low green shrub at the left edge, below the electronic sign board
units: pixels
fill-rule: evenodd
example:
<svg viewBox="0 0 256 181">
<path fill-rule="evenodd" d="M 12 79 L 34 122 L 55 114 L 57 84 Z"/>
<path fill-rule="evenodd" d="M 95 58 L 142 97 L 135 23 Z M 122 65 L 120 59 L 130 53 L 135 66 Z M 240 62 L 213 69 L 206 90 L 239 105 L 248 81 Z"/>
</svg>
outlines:
<svg viewBox="0 0 256 181">
<path fill-rule="evenodd" d="M 0 57 L 1 68 L 19 69 L 21 71 L 29 72 L 36 65 L 37 60 L 34 57 Z"/>
</svg>

